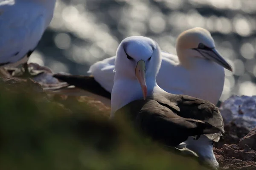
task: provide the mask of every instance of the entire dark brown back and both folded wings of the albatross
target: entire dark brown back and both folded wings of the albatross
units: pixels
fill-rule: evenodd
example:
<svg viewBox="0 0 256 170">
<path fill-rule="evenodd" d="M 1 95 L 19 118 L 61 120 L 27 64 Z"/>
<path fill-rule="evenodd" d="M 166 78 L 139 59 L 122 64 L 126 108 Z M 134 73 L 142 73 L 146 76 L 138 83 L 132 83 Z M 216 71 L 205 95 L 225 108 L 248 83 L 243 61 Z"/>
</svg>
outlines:
<svg viewBox="0 0 256 170">
<path fill-rule="evenodd" d="M 210 102 L 186 95 L 154 93 L 145 101 L 135 100 L 116 111 L 127 113 L 143 133 L 163 144 L 175 147 L 189 136 L 205 134 L 218 142 L 224 135 L 223 119 Z M 214 134 L 214 135 L 212 135 Z"/>
</svg>

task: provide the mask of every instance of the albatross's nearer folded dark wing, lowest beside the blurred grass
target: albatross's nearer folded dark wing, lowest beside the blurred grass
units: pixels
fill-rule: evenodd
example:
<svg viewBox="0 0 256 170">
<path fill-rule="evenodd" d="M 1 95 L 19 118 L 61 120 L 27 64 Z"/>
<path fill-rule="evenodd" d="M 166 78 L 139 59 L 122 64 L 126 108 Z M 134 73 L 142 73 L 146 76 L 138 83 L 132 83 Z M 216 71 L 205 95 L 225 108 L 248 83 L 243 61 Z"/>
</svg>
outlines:
<svg viewBox="0 0 256 170">
<path fill-rule="evenodd" d="M 122 113 L 126 113 L 143 133 L 168 146 L 177 146 L 188 136 L 220 132 L 219 128 L 207 122 L 180 117 L 153 99 L 133 101 L 115 114 Z"/>
</svg>

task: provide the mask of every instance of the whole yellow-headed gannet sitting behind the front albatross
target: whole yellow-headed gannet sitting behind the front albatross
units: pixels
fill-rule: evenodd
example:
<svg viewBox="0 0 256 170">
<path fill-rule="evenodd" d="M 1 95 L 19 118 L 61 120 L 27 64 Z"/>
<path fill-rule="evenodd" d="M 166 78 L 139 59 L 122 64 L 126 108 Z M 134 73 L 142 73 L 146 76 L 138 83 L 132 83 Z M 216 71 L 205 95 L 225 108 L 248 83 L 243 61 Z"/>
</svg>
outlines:
<svg viewBox="0 0 256 170">
<path fill-rule="evenodd" d="M 233 70 L 215 49 L 209 31 L 204 28 L 184 31 L 177 37 L 176 51 L 177 56 L 161 51 L 163 59 L 157 84 L 169 93 L 194 96 L 216 105 L 223 91 L 224 68 Z M 115 60 L 116 56 L 96 62 L 88 71 L 89 77 L 61 74 L 54 77 L 110 99 Z"/>
</svg>

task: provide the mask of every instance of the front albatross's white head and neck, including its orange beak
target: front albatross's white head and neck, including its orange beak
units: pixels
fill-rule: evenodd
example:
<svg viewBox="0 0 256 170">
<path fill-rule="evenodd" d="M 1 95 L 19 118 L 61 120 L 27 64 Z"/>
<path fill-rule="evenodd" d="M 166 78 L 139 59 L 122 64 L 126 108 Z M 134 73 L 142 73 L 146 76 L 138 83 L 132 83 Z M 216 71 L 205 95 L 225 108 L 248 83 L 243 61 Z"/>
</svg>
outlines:
<svg viewBox="0 0 256 170">
<path fill-rule="evenodd" d="M 160 65 L 160 48 L 154 40 L 142 36 L 122 40 L 116 51 L 111 116 L 129 102 L 152 94 Z"/>
</svg>

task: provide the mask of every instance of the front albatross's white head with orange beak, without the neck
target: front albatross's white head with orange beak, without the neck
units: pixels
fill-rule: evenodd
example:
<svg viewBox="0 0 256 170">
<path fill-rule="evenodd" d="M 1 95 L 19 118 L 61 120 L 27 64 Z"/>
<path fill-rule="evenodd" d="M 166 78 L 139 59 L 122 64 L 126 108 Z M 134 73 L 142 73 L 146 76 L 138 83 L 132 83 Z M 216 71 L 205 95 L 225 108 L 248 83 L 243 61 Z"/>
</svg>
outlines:
<svg viewBox="0 0 256 170">
<path fill-rule="evenodd" d="M 154 40 L 142 36 L 122 40 L 116 51 L 115 72 L 123 79 L 137 79 L 147 96 L 146 79 L 156 78 L 161 65 L 160 47 Z"/>
</svg>

